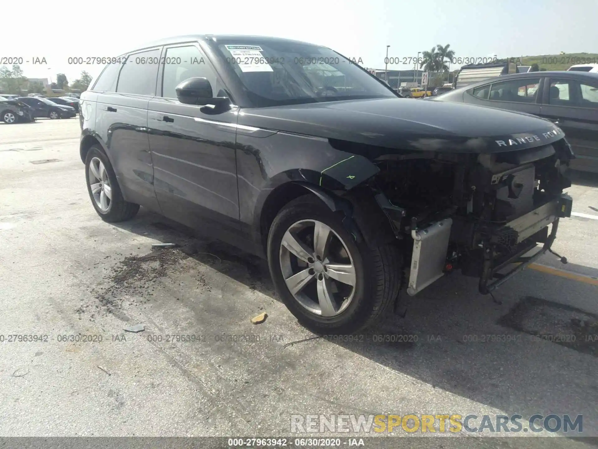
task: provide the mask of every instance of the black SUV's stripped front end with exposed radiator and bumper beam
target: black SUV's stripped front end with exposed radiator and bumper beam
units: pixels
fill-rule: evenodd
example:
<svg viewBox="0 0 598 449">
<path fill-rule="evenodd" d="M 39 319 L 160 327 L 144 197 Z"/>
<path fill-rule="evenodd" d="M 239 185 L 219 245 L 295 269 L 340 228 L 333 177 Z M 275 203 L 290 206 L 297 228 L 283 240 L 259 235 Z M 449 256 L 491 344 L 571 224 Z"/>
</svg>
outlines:
<svg viewBox="0 0 598 449">
<path fill-rule="evenodd" d="M 562 138 L 524 150 L 394 151 L 371 159 L 380 171 L 367 187 L 405 265 L 411 261 L 408 294 L 457 269 L 478 277 L 480 292 L 489 293 L 550 251 L 560 217 L 570 216 L 572 200 L 563 189 L 574 157 Z"/>
</svg>

